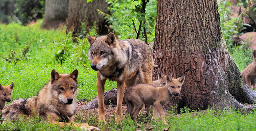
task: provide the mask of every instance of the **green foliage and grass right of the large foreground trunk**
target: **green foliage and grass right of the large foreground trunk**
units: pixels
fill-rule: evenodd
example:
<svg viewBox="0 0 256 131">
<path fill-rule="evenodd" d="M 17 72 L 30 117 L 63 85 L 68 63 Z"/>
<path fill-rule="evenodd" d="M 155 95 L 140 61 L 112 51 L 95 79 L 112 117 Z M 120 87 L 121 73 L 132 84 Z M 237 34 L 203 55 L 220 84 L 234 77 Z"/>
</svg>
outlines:
<svg viewBox="0 0 256 131">
<path fill-rule="evenodd" d="M 227 0 L 222 1 L 219 4 L 222 37 L 223 40 L 225 40 L 227 49 L 229 50 L 230 55 L 237 64 L 237 67 L 240 71 L 242 71 L 253 60 L 252 50 L 248 48 L 248 45 L 251 45 L 251 43 L 241 42 L 239 45 L 236 45 L 234 43 L 233 35 L 241 36 L 243 34 L 243 32 L 241 31 L 246 27 L 244 27 L 245 24 L 241 19 L 242 14 L 240 14 L 240 16 L 238 17 L 228 16 L 228 14 L 231 13 L 230 5 L 230 2 Z"/>
</svg>

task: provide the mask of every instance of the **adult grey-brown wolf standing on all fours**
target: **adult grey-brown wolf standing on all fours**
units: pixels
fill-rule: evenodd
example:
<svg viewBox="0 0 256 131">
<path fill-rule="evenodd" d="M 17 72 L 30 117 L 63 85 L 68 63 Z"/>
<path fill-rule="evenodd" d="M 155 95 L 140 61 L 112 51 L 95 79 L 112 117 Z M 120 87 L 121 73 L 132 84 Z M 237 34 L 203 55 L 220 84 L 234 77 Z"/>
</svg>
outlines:
<svg viewBox="0 0 256 131">
<path fill-rule="evenodd" d="M 153 56 L 147 44 L 139 39 L 118 40 L 114 33 L 108 36 L 92 37 L 87 35 L 90 44 L 88 58 L 91 68 L 97 71 L 97 92 L 99 121 L 105 121 L 103 102 L 106 79 L 117 82 L 116 122 L 121 120 L 121 107 L 125 87 L 140 83 L 152 84 Z"/>
</svg>

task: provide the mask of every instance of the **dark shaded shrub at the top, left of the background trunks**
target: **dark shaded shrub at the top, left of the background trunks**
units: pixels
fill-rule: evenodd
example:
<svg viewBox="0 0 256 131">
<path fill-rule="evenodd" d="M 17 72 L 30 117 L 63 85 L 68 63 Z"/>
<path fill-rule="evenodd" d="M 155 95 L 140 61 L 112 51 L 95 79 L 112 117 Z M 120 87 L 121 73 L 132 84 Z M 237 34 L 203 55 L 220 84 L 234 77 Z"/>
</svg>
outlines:
<svg viewBox="0 0 256 131">
<path fill-rule="evenodd" d="M 17 0 L 16 14 L 23 25 L 43 18 L 45 0 Z"/>
</svg>

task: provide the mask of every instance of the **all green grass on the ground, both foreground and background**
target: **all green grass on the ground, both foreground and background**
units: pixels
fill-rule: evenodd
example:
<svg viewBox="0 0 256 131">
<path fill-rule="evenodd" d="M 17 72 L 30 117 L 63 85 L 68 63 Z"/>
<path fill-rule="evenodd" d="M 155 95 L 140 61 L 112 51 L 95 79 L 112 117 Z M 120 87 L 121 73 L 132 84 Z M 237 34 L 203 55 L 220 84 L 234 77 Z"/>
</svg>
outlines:
<svg viewBox="0 0 256 131">
<path fill-rule="evenodd" d="M 42 86 L 50 79 L 50 71 L 56 69 L 59 73 L 70 73 L 74 69 L 79 70 L 79 95 L 78 99 L 91 100 L 97 95 L 96 72 L 90 68 L 87 60 L 89 45 L 86 39 L 78 39 L 73 43 L 70 34 L 65 34 L 65 28 L 57 30 L 42 30 L 39 23 L 30 26 L 18 24 L 0 25 L 0 83 L 10 85 L 14 82 L 12 101 L 18 98 L 29 98 L 37 94 Z M 93 33 L 93 32 L 90 32 Z M 31 43 L 31 44 L 30 44 Z M 25 57 L 20 57 L 24 48 L 30 45 Z M 12 57 L 12 52 L 15 52 Z M 237 49 L 231 54 L 240 71 L 251 61 L 252 51 Z M 57 57 L 57 58 L 56 58 Z M 12 62 L 6 60 L 9 58 Z M 16 61 L 15 59 L 19 59 Z M 62 61 L 62 63 L 60 62 Z M 105 91 L 116 87 L 115 82 L 107 81 Z M 192 115 L 193 112 L 185 111 L 180 117 L 176 113 L 169 112 L 166 121 L 170 130 L 177 131 L 205 131 L 205 130 L 255 130 L 255 112 L 243 114 L 238 111 L 214 111 L 207 110 L 204 113 Z M 113 117 L 107 119 L 107 125 L 98 125 L 96 114 L 76 114 L 76 122 L 89 123 L 102 130 L 135 130 L 138 127 L 130 119 L 124 119 L 122 124 L 116 124 Z M 0 124 L 1 130 L 52 130 L 69 131 L 74 127 L 59 127 L 49 124 L 47 121 L 34 119 L 20 119 L 14 123 Z M 142 125 L 138 129 L 154 131 L 163 130 L 161 121 L 151 120 L 140 114 L 137 119 Z"/>
</svg>

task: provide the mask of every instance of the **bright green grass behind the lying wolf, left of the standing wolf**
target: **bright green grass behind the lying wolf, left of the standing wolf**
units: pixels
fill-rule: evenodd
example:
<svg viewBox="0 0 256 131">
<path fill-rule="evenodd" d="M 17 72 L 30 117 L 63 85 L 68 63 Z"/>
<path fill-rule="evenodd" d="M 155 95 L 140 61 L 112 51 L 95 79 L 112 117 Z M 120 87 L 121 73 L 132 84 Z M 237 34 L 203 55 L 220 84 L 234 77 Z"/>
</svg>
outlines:
<svg viewBox="0 0 256 131">
<path fill-rule="evenodd" d="M 88 68 L 90 63 L 86 58 L 89 48 L 87 40 L 75 44 L 71 36 L 65 34 L 64 29 L 42 30 L 41 22 L 27 27 L 18 24 L 0 25 L 0 83 L 10 85 L 14 82 L 12 100 L 30 98 L 50 80 L 52 69 L 56 69 L 59 73 L 71 73 L 74 69 L 78 69 L 78 99 L 93 99 L 97 96 L 97 75 Z M 26 57 L 22 57 L 16 63 L 5 60 L 12 51 L 15 51 L 15 58 L 19 58 L 30 41 L 32 44 Z M 84 45 L 84 49 L 80 49 L 81 45 Z M 55 56 L 64 48 L 67 48 L 68 55 L 61 56 L 65 59 L 61 64 Z M 83 51 L 85 53 L 81 53 Z M 85 57 L 85 62 L 79 60 L 79 56 Z M 115 85 L 114 82 L 106 82 L 105 89 L 110 90 Z"/>
</svg>

